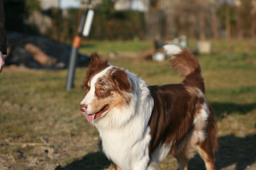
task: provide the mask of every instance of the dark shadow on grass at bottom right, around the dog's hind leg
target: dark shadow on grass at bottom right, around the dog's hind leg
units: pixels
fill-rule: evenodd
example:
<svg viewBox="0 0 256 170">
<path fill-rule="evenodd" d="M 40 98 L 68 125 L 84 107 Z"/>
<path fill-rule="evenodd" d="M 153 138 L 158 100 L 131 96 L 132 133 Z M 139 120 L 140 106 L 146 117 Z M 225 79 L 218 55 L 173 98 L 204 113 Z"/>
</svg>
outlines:
<svg viewBox="0 0 256 170">
<path fill-rule="evenodd" d="M 215 153 L 216 169 L 231 166 L 235 170 L 244 170 L 250 167 L 256 161 L 255 141 L 256 135 L 219 137 L 219 149 Z M 189 160 L 188 169 L 205 169 L 204 161 L 198 154 Z"/>
</svg>

